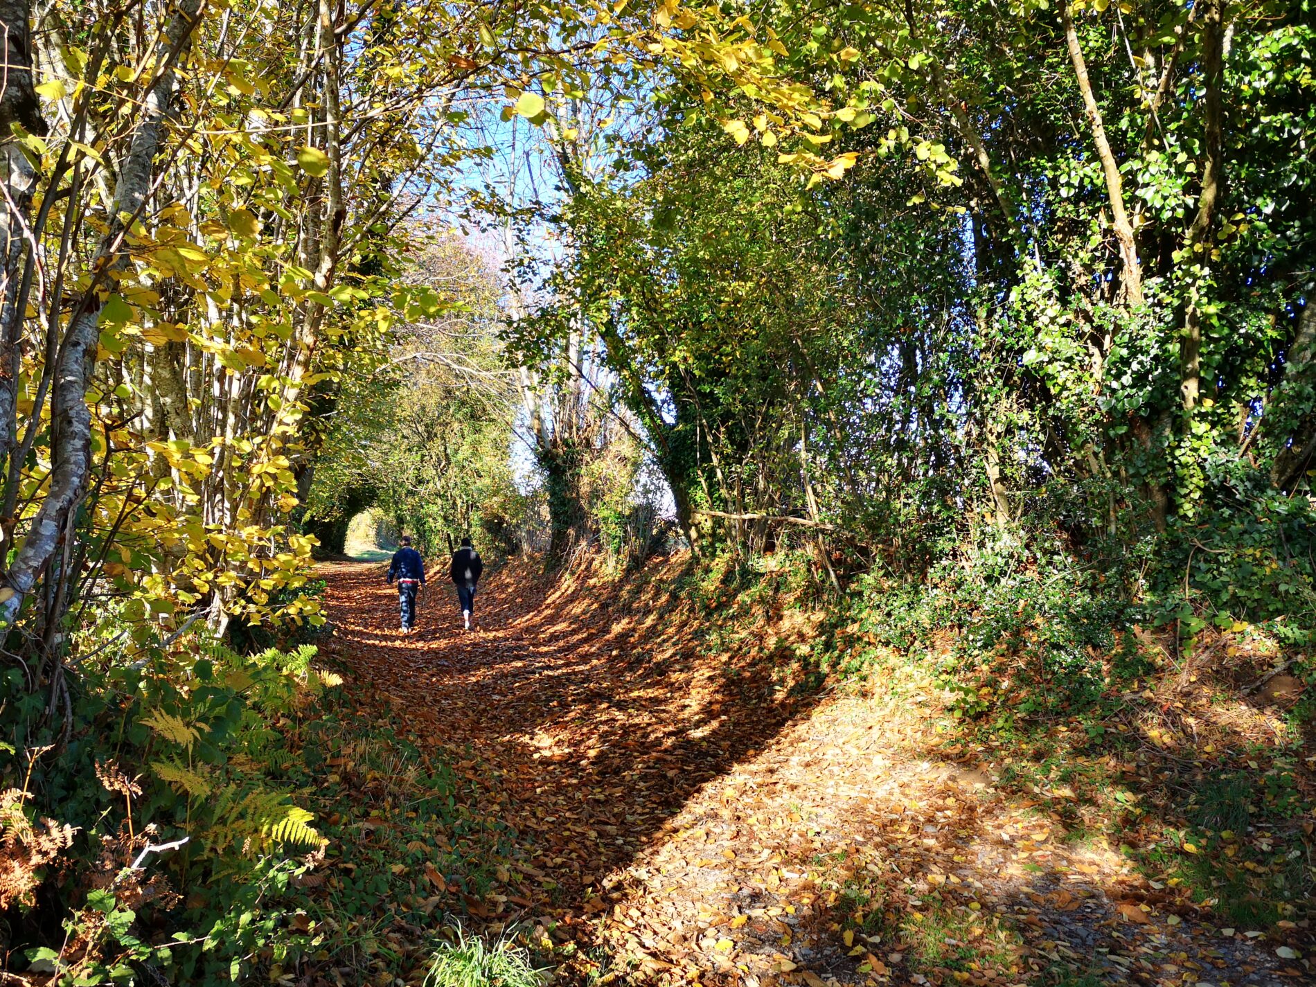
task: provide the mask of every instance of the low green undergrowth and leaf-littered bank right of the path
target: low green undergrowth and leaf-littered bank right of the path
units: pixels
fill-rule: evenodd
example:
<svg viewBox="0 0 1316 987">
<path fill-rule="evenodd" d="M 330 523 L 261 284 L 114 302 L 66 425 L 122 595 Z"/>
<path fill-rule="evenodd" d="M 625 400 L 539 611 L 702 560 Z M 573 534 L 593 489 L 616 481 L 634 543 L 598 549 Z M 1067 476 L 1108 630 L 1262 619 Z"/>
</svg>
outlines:
<svg viewBox="0 0 1316 987">
<path fill-rule="evenodd" d="M 771 659 L 794 690 L 930 688 L 930 754 L 990 763 L 998 788 L 1108 838 L 1220 925 L 1307 923 L 1313 529 L 1304 504 L 1271 507 L 1221 508 L 1155 557 L 1001 534 L 841 595 L 786 551 L 720 558 L 678 592 L 703 651 Z"/>
</svg>

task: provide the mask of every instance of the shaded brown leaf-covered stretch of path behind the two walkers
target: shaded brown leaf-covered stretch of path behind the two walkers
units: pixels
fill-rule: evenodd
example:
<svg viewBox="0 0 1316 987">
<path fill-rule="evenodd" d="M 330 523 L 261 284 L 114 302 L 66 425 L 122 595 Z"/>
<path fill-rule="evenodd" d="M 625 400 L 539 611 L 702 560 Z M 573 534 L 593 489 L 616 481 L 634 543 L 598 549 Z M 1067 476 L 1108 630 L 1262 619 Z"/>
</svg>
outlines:
<svg viewBox="0 0 1316 987">
<path fill-rule="evenodd" d="M 336 628 L 326 650 L 422 738 L 468 746 L 497 772 L 504 821 L 558 915 L 582 915 L 599 879 L 624 869 L 694 792 L 815 703 L 774 682 L 766 662 L 700 662 L 694 630 L 670 613 L 613 620 L 615 588 L 503 570 L 482 586 L 479 629 L 467 634 L 453 587 L 436 580 L 418 633 L 404 637 L 383 567 L 321 572 Z M 670 632 L 655 634 L 658 621 Z"/>
</svg>

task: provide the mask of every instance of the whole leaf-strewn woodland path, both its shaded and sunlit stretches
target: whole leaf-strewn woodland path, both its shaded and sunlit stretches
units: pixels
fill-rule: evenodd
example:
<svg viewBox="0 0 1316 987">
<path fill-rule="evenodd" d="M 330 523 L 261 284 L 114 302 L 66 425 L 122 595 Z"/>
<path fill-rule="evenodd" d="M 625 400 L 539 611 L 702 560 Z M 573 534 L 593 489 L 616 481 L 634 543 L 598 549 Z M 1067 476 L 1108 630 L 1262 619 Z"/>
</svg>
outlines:
<svg viewBox="0 0 1316 987">
<path fill-rule="evenodd" d="M 1302 951 L 1180 907 L 1004 792 L 917 694 L 803 690 L 780 662 L 709 654 L 674 594 L 524 567 L 482 587 L 478 630 L 443 583 L 404 637 L 382 571 L 321 569 L 322 650 L 357 701 L 479 779 L 470 811 L 511 828 L 496 876 L 430 882 L 558 983 L 1307 982 Z M 811 629 L 788 612 L 761 636 Z"/>
</svg>

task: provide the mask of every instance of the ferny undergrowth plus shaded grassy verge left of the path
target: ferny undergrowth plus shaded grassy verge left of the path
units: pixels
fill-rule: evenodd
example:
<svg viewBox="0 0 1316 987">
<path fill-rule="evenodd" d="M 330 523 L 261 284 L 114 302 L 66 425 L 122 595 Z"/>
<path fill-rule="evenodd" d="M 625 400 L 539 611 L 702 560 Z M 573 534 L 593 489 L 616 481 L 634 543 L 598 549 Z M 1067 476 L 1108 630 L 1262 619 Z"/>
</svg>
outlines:
<svg viewBox="0 0 1316 987">
<path fill-rule="evenodd" d="M 188 636 L 136 658 L 83 669 L 63 757 L 21 670 L 0 679 L 8 970 L 418 983 L 436 919 L 483 911 L 495 878 L 470 766 L 366 713 L 311 645 L 243 655 Z"/>
</svg>

